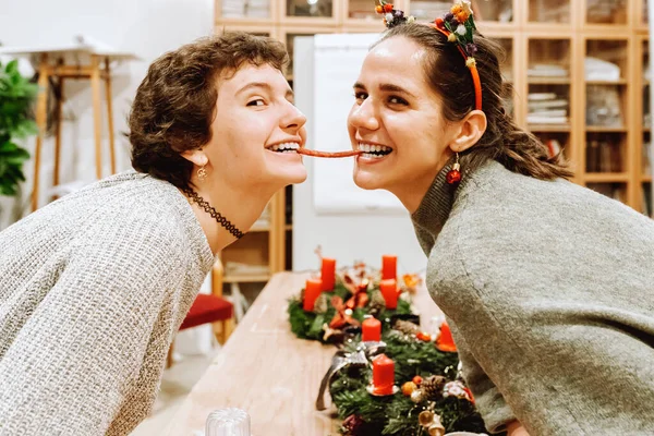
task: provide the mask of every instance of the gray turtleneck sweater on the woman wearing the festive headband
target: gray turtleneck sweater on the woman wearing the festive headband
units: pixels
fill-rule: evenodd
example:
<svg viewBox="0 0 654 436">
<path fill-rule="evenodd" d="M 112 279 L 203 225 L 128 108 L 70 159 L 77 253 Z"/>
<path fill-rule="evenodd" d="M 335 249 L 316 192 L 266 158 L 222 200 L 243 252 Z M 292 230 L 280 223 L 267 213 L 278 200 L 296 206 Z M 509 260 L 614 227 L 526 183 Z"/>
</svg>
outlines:
<svg viewBox="0 0 654 436">
<path fill-rule="evenodd" d="M 492 161 L 412 219 L 492 433 L 654 435 L 654 221 Z"/>
</svg>

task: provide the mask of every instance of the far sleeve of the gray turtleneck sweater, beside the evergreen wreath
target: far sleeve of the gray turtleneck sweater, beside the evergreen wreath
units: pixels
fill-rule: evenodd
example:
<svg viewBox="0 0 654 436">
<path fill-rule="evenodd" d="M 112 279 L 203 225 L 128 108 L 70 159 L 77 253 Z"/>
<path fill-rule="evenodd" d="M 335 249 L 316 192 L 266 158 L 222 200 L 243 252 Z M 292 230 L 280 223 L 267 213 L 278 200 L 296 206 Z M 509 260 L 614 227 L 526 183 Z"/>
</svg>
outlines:
<svg viewBox="0 0 654 436">
<path fill-rule="evenodd" d="M 475 404 L 484 419 L 486 428 L 493 434 L 506 432 L 507 424 L 517 420 L 516 415 L 506 403 L 501 392 L 470 352 L 457 326 L 451 319 L 448 319 L 448 324 L 463 366 L 463 378 L 474 396 Z"/>
</svg>

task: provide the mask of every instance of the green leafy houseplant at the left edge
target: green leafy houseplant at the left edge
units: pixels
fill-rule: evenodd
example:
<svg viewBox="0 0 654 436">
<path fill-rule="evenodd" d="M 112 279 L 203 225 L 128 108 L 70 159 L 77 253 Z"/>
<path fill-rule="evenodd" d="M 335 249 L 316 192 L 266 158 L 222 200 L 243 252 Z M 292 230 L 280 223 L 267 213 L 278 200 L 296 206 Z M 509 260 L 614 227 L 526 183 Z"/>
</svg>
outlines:
<svg viewBox="0 0 654 436">
<path fill-rule="evenodd" d="M 37 133 L 32 111 L 37 93 L 38 85 L 21 75 L 17 61 L 0 63 L 0 195 L 16 195 L 25 181 L 29 153 L 15 141 Z"/>
</svg>

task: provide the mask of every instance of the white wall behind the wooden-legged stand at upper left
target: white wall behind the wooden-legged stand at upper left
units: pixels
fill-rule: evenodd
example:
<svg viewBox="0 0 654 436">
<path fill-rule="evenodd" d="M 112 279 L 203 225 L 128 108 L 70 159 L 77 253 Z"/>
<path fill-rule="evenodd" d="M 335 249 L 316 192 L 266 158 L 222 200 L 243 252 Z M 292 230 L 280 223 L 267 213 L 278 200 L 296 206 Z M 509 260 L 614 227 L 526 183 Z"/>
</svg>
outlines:
<svg viewBox="0 0 654 436">
<path fill-rule="evenodd" d="M 119 171 L 131 168 L 129 144 L 120 134 L 136 87 L 147 66 L 161 53 L 213 32 L 214 0 L 1 0 L 0 43 L 11 46 L 56 46 L 71 44 L 85 35 L 120 50 L 132 51 L 141 61 L 119 66 L 113 74 L 113 122 Z M 88 81 L 70 81 L 64 89 L 62 170 L 60 181 L 95 180 L 95 143 Z M 102 90 L 104 95 L 104 90 Z M 106 119 L 102 120 L 104 150 L 108 153 Z M 27 142 L 32 152 L 34 140 Z M 41 158 L 41 192 L 52 180 L 53 141 L 48 138 Z M 104 174 L 109 174 L 108 155 Z M 23 202 L 28 207 L 33 164 L 24 167 L 28 181 Z M 45 201 L 45 196 L 43 196 Z M 10 222 L 8 208 L 13 199 L 0 197 L 0 229 Z M 44 204 L 41 202 L 41 204 Z M 27 210 L 28 211 L 28 210 Z"/>
</svg>

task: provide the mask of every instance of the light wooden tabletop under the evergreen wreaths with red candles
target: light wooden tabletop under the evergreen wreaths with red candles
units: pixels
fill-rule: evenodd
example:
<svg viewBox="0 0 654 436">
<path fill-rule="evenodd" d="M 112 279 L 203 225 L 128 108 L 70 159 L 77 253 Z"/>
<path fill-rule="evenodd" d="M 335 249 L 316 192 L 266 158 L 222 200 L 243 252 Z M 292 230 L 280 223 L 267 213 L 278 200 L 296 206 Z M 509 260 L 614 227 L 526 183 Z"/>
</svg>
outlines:
<svg viewBox="0 0 654 436">
<path fill-rule="evenodd" d="M 339 434 L 335 408 L 318 412 L 314 405 L 336 348 L 295 338 L 286 313 L 287 300 L 307 277 L 279 272 L 270 279 L 184 400 L 168 435 L 197 435 L 211 411 L 228 407 L 247 411 L 254 436 Z M 440 313 L 425 289 L 414 303 L 423 327 Z"/>
</svg>

